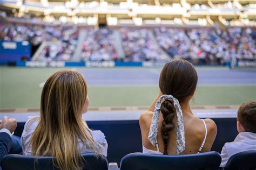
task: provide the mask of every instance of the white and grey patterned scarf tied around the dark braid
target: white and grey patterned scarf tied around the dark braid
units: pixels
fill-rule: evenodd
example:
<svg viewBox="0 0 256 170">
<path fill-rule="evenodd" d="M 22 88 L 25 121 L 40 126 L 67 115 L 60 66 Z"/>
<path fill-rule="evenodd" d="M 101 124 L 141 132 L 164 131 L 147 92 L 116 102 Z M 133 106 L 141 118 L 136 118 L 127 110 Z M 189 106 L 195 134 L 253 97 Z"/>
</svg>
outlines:
<svg viewBox="0 0 256 170">
<path fill-rule="evenodd" d="M 157 101 L 156 107 L 154 108 L 154 114 L 152 117 L 151 125 L 150 125 L 149 136 L 147 137 L 147 139 L 149 139 L 150 143 L 153 146 L 156 146 L 158 122 L 159 122 L 159 111 L 161 107 L 161 100 L 163 100 L 163 98 L 164 100 L 173 101 L 174 107 L 176 108 L 176 112 L 177 112 L 177 130 L 176 130 L 177 148 L 176 150 L 177 150 L 177 154 L 179 155 L 181 152 L 185 150 L 185 131 L 184 131 L 183 113 L 181 111 L 179 101 L 177 100 L 177 98 L 174 98 L 172 95 L 163 95 Z"/>
</svg>

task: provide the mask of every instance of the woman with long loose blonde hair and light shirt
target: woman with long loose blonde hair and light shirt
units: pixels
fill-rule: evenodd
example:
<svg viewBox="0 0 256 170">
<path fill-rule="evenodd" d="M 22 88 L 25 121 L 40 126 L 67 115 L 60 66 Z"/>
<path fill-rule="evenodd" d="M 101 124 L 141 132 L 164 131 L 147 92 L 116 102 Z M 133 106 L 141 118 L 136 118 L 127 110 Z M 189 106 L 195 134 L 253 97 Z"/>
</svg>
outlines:
<svg viewBox="0 0 256 170">
<path fill-rule="evenodd" d="M 29 119 L 22 133 L 24 155 L 56 157 L 60 169 L 82 168 L 83 153 L 107 154 L 101 131 L 92 131 L 82 118 L 89 98 L 82 74 L 61 70 L 45 82 L 41 116 Z"/>
</svg>

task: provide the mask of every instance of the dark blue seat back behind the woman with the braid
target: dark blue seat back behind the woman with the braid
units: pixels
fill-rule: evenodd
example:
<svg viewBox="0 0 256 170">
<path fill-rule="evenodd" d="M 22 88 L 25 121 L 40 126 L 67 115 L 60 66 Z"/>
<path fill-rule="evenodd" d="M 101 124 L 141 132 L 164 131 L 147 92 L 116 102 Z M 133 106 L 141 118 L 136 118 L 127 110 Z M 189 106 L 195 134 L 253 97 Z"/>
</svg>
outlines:
<svg viewBox="0 0 256 170">
<path fill-rule="evenodd" d="M 217 170 L 221 157 L 218 152 L 189 155 L 157 155 L 131 153 L 121 160 L 120 170 Z"/>
</svg>

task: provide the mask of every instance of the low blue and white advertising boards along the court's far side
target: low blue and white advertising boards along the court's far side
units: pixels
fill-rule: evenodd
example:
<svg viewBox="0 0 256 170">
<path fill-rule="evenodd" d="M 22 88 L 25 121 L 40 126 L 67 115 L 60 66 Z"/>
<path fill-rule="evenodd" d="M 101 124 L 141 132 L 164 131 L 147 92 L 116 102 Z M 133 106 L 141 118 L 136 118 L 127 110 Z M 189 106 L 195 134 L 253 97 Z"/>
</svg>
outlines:
<svg viewBox="0 0 256 170">
<path fill-rule="evenodd" d="M 123 61 L 16 61 L 17 67 L 97 67 L 97 68 L 113 68 L 113 67 L 163 67 L 167 61 L 143 61 L 143 62 L 123 62 Z M 197 64 L 195 64 L 197 66 Z M 201 66 L 201 65 L 200 65 Z M 204 66 L 220 66 L 220 65 L 204 65 Z M 225 62 L 226 67 L 231 66 L 231 62 Z M 234 64 L 235 67 L 256 67 L 256 60 L 238 60 Z"/>
</svg>

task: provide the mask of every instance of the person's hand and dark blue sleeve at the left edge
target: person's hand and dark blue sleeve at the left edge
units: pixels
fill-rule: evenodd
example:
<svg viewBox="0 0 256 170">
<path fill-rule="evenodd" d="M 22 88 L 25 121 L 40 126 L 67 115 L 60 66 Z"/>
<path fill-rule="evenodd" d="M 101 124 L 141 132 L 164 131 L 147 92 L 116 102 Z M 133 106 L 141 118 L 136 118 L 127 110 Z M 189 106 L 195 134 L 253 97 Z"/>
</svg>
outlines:
<svg viewBox="0 0 256 170">
<path fill-rule="evenodd" d="M 0 169 L 2 158 L 11 150 L 11 133 L 15 131 L 16 127 L 17 122 L 14 118 L 4 116 L 3 121 L 0 121 Z"/>
</svg>

